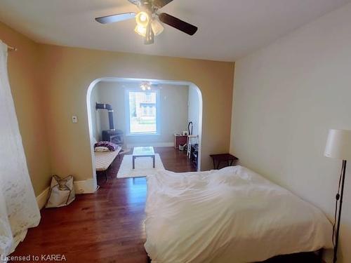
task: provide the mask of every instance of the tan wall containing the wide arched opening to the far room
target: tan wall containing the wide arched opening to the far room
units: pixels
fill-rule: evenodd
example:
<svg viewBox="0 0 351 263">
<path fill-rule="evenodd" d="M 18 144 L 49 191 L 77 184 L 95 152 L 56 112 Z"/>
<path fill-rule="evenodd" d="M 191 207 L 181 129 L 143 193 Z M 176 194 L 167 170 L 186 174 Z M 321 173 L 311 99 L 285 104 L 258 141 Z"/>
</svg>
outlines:
<svg viewBox="0 0 351 263">
<path fill-rule="evenodd" d="M 204 101 L 202 169 L 212 153 L 229 151 L 234 63 L 41 46 L 43 86 L 48 103 L 52 173 L 93 176 L 86 93 L 102 77 L 191 81 Z M 78 116 L 78 123 L 71 116 Z M 220 116 L 220 118 L 218 118 Z"/>
</svg>

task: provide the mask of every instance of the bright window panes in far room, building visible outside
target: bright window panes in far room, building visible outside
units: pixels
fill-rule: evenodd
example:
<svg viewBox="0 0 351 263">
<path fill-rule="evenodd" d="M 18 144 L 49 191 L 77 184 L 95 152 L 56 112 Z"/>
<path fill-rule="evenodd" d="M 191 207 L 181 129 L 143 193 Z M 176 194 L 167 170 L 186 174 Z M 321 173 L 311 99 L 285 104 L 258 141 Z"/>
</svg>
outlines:
<svg viewBox="0 0 351 263">
<path fill-rule="evenodd" d="M 127 127 L 129 134 L 158 133 L 158 91 L 126 91 Z"/>
</svg>

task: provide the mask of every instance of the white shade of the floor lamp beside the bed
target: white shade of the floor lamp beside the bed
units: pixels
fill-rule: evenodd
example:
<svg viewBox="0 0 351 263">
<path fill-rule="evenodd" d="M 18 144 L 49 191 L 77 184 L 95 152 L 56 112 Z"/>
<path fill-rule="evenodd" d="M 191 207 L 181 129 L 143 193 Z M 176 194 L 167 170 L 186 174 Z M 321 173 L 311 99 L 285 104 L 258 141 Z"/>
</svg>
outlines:
<svg viewBox="0 0 351 263">
<path fill-rule="evenodd" d="M 351 130 L 329 130 L 324 156 L 351 160 Z"/>
</svg>

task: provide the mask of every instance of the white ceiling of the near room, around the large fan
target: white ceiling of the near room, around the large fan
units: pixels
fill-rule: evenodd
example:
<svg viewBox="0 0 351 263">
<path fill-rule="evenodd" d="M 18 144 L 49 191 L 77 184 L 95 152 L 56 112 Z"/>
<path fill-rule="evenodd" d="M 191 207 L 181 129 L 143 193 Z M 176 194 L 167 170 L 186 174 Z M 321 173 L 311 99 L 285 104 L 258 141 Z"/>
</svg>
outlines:
<svg viewBox="0 0 351 263">
<path fill-rule="evenodd" d="M 183 58 L 235 61 L 351 0 L 174 0 L 161 11 L 199 27 L 188 36 L 165 25 L 143 44 L 134 20 L 94 18 L 138 11 L 127 0 L 1 0 L 0 21 L 40 43 Z"/>
</svg>

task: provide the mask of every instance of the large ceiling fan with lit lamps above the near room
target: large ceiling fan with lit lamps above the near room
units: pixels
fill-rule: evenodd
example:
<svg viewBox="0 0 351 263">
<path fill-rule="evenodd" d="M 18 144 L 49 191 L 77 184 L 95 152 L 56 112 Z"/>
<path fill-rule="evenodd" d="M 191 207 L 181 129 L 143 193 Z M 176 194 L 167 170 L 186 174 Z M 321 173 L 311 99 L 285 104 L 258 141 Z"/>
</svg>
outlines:
<svg viewBox="0 0 351 263">
<path fill-rule="evenodd" d="M 159 13 L 159 8 L 166 6 L 173 0 L 128 0 L 131 4 L 135 4 L 140 9 L 139 13 L 120 13 L 116 15 L 107 15 L 100 18 L 95 18 L 101 24 L 110 24 L 135 18 L 136 27 L 134 31 L 141 36 L 144 36 L 145 44 L 154 43 L 154 36 L 161 34 L 164 27 L 161 22 L 164 22 L 171 27 L 174 27 L 186 34 L 192 36 L 197 32 L 197 27 L 191 25 L 179 18 L 175 18 L 167 13 Z"/>
</svg>

